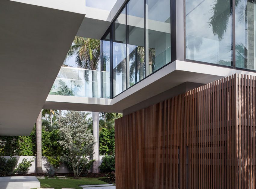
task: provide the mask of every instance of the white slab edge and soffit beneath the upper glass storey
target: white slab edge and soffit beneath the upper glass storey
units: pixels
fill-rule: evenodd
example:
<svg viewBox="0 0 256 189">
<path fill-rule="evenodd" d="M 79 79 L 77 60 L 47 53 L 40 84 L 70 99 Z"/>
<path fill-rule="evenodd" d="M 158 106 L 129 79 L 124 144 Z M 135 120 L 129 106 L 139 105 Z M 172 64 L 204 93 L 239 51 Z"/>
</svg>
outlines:
<svg viewBox="0 0 256 189">
<path fill-rule="evenodd" d="M 44 108 L 80 111 L 122 112 L 135 104 L 167 91 L 184 82 L 210 83 L 239 73 L 256 73 L 214 65 L 174 61 L 113 99 L 48 95 Z"/>
</svg>

